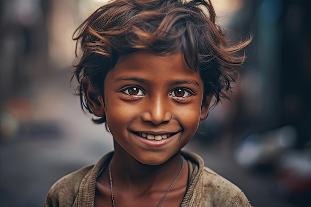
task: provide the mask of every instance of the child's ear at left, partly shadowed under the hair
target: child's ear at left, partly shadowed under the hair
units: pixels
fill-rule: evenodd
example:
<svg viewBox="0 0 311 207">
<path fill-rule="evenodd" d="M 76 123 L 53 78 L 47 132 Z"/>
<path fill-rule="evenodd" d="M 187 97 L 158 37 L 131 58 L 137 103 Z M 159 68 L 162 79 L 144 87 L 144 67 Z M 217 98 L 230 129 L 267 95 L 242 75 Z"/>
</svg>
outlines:
<svg viewBox="0 0 311 207">
<path fill-rule="evenodd" d="M 100 92 L 91 85 L 86 77 L 81 80 L 81 87 L 93 114 L 97 117 L 105 117 L 105 105 Z"/>
</svg>

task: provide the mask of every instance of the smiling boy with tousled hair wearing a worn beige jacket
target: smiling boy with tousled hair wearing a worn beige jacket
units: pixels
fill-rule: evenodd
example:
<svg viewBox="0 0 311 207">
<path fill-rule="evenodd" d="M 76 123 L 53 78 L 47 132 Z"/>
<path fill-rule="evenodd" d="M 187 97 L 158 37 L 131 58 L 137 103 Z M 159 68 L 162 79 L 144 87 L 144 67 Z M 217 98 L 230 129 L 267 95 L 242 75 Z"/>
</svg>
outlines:
<svg viewBox="0 0 311 207">
<path fill-rule="evenodd" d="M 181 148 L 226 97 L 250 40 L 227 46 L 204 0 L 116 0 L 76 31 L 82 106 L 114 152 L 60 179 L 45 207 L 250 207 L 236 186 Z M 78 57 L 78 55 L 77 55 Z"/>
</svg>

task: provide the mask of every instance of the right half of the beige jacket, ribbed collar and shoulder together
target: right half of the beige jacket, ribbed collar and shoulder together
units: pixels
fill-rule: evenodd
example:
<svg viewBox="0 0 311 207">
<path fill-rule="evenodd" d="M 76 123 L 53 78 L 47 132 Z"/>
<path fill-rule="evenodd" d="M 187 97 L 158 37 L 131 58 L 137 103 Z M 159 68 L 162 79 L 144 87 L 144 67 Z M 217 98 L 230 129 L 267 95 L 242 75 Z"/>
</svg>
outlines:
<svg viewBox="0 0 311 207">
<path fill-rule="evenodd" d="M 251 207 L 237 186 L 204 166 L 202 157 L 189 151 L 182 151 L 182 155 L 189 165 L 189 188 L 184 206 Z M 199 204 L 192 201 L 199 201 Z"/>
</svg>

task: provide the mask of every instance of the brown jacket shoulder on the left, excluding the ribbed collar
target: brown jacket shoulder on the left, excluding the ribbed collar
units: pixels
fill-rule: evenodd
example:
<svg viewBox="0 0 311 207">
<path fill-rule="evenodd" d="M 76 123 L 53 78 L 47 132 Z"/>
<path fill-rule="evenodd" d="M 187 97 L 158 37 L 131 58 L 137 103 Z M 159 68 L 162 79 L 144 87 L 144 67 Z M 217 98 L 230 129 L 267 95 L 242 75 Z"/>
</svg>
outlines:
<svg viewBox="0 0 311 207">
<path fill-rule="evenodd" d="M 46 196 L 44 207 L 71 207 L 78 194 L 82 179 L 93 166 L 85 166 L 54 183 Z"/>
</svg>

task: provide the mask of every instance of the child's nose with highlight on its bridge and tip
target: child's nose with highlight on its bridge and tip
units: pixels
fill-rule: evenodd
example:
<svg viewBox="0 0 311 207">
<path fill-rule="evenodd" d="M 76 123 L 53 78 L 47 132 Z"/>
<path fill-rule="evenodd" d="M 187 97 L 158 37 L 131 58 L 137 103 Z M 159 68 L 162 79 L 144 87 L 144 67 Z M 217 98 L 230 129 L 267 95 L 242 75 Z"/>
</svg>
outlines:
<svg viewBox="0 0 311 207">
<path fill-rule="evenodd" d="M 143 121 L 159 125 L 172 119 L 170 104 L 165 98 L 150 98 L 145 104 L 145 110 L 142 113 Z"/>
</svg>

